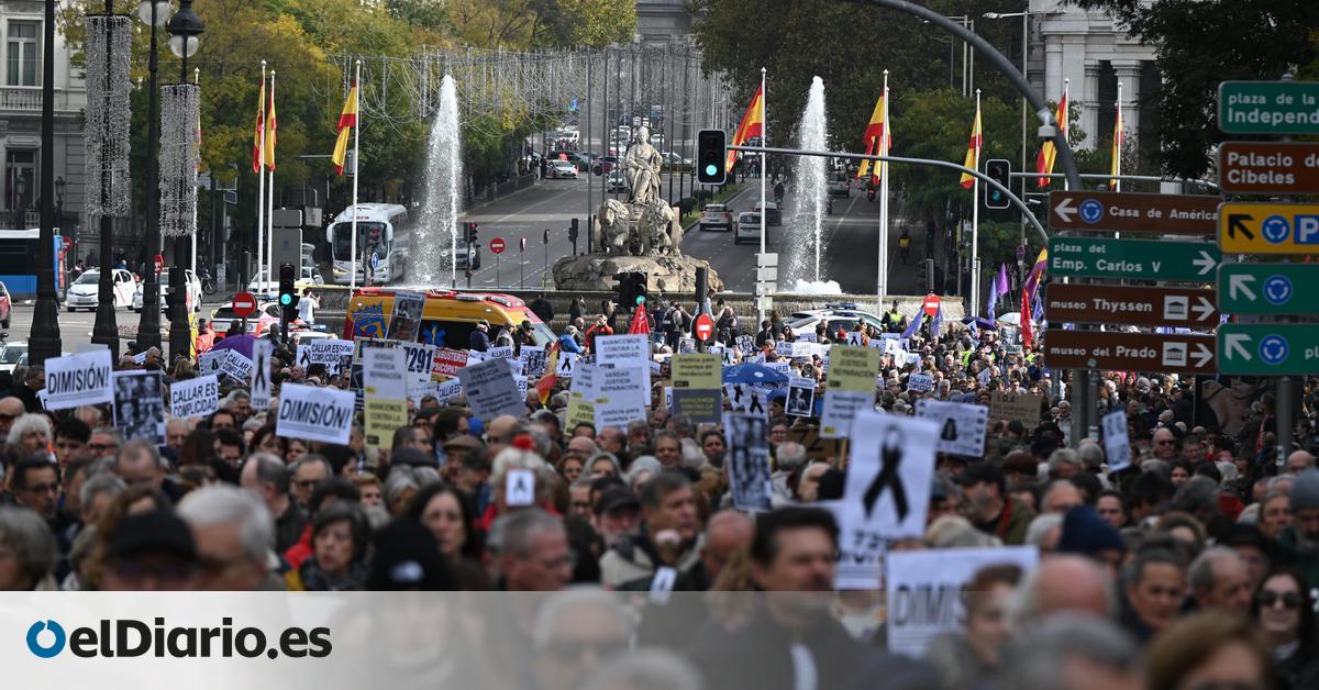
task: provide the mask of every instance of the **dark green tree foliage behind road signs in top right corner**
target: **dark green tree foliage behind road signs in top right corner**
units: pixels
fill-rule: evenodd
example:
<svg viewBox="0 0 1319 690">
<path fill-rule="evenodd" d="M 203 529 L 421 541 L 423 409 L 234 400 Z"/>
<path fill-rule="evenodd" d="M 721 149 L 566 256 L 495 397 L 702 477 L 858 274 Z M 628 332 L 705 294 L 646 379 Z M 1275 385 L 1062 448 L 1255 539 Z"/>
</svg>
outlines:
<svg viewBox="0 0 1319 690">
<path fill-rule="evenodd" d="M 1217 84 L 1278 79 L 1291 66 L 1319 77 L 1319 3 L 1308 0 L 1075 0 L 1107 11 L 1141 41 L 1157 46 L 1163 78 L 1157 99 L 1163 172 L 1198 178 L 1211 166 L 1217 131 Z"/>
</svg>

